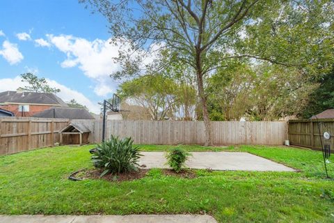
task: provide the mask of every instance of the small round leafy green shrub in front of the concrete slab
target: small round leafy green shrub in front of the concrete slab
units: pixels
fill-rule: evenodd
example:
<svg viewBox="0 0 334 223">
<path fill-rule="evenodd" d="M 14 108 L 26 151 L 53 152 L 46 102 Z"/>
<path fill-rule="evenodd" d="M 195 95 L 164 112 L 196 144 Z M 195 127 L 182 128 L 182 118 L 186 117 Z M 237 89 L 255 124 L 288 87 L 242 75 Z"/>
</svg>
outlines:
<svg viewBox="0 0 334 223">
<path fill-rule="evenodd" d="M 172 150 L 166 154 L 167 164 L 175 172 L 179 173 L 182 167 L 185 167 L 185 162 L 188 160 L 190 153 L 182 150 L 182 148 L 172 148 Z"/>
</svg>

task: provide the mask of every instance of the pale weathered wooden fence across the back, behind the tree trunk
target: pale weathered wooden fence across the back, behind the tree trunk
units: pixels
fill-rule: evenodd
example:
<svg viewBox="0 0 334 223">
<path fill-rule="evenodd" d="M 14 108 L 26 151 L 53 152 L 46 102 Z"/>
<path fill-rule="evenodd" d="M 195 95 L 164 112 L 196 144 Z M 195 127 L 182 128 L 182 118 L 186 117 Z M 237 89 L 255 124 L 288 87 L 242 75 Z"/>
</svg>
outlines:
<svg viewBox="0 0 334 223">
<path fill-rule="evenodd" d="M 217 145 L 282 145 L 287 139 L 287 123 L 283 121 L 213 121 L 212 131 Z M 101 141 L 101 122 L 95 122 L 93 132 L 93 141 Z M 132 137 L 135 144 L 205 143 L 202 121 L 108 121 L 106 138 L 111 134 Z"/>
</svg>

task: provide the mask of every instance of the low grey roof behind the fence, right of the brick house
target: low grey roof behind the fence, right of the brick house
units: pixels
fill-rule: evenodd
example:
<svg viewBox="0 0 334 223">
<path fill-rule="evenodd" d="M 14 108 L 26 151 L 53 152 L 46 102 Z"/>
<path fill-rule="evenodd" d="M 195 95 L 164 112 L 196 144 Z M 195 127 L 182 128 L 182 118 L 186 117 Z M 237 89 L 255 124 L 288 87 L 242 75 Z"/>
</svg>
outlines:
<svg viewBox="0 0 334 223">
<path fill-rule="evenodd" d="M 77 107 L 51 107 L 34 114 L 36 118 L 95 119 L 86 109 Z"/>
</svg>

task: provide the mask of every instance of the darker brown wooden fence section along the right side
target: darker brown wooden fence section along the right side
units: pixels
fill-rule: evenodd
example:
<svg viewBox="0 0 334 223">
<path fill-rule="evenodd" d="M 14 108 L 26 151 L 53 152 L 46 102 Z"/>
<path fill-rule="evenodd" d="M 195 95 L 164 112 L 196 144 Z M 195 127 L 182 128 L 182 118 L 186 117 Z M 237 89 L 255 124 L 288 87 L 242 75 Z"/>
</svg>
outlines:
<svg viewBox="0 0 334 223">
<path fill-rule="evenodd" d="M 320 132 L 319 132 L 320 128 Z M 289 141 L 294 146 L 303 146 L 315 150 L 321 150 L 321 141 L 324 141 L 323 132 L 327 131 L 334 135 L 334 118 L 289 120 Z M 334 139 L 326 140 L 326 143 L 334 147 Z"/>
</svg>

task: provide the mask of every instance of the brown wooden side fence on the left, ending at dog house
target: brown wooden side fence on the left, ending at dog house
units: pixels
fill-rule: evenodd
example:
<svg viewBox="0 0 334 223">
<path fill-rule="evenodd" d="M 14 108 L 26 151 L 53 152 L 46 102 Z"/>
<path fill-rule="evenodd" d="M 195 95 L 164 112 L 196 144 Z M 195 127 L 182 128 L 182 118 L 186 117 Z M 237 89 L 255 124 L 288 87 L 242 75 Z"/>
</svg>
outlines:
<svg viewBox="0 0 334 223">
<path fill-rule="evenodd" d="M 0 155 L 54 146 L 68 119 L 0 118 Z"/>
</svg>

